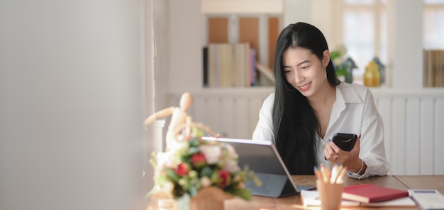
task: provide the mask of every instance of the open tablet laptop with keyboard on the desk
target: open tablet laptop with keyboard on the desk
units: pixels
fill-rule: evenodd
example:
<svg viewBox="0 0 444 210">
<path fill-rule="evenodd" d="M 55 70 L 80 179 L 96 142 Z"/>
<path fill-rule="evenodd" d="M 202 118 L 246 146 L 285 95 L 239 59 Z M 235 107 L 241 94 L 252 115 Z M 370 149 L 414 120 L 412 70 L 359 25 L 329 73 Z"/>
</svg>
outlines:
<svg viewBox="0 0 444 210">
<path fill-rule="evenodd" d="M 239 155 L 239 166 L 248 165 L 250 170 L 260 179 L 262 185 L 257 187 L 248 180 L 245 187 L 253 195 L 263 197 L 286 197 L 298 194 L 298 186 L 294 185 L 292 177 L 284 165 L 276 147 L 271 141 L 253 141 L 251 139 L 227 139 L 202 137 L 207 141 L 223 141 L 231 144 Z M 307 186 L 299 186 L 306 189 Z"/>
</svg>

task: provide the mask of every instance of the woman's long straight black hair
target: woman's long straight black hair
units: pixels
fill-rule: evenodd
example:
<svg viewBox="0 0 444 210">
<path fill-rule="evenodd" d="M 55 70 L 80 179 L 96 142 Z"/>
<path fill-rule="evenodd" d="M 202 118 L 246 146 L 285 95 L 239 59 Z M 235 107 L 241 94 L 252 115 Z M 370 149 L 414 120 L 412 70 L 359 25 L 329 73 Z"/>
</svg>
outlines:
<svg viewBox="0 0 444 210">
<path fill-rule="evenodd" d="M 316 112 L 307 98 L 297 91 L 284 75 L 282 54 L 289 47 L 311 50 L 320 60 L 328 49 L 321 30 L 308 23 L 294 23 L 284 28 L 274 51 L 276 89 L 273 106 L 273 133 L 277 151 L 292 175 L 313 175 L 316 165 L 316 132 L 320 126 Z M 333 63 L 328 63 L 327 79 L 331 86 L 338 80 Z"/>
</svg>

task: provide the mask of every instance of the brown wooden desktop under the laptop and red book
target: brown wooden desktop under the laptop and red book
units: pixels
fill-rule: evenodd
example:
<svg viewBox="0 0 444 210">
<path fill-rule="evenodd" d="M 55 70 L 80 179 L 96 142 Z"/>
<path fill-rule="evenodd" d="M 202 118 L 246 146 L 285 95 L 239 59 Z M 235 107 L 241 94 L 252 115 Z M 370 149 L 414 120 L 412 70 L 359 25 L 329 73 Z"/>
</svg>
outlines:
<svg viewBox="0 0 444 210">
<path fill-rule="evenodd" d="M 311 175 L 292 176 L 296 185 L 308 185 L 316 186 L 316 177 Z M 348 177 L 345 181 L 345 185 L 359 185 L 371 183 L 374 185 L 380 185 L 384 187 L 391 187 L 394 189 L 438 189 L 444 194 L 444 175 L 389 175 L 382 177 L 368 177 L 365 180 L 355 180 Z M 250 202 L 246 202 L 242 199 L 230 199 L 225 202 L 225 209 L 249 209 L 249 210 L 287 210 L 287 209 L 319 209 L 313 207 L 304 207 L 301 196 L 299 194 L 283 197 L 283 198 L 270 198 L 270 197 L 253 197 Z M 370 208 L 370 207 L 348 207 L 347 209 L 409 209 L 416 210 L 416 207 L 392 207 L 392 208 Z"/>
</svg>

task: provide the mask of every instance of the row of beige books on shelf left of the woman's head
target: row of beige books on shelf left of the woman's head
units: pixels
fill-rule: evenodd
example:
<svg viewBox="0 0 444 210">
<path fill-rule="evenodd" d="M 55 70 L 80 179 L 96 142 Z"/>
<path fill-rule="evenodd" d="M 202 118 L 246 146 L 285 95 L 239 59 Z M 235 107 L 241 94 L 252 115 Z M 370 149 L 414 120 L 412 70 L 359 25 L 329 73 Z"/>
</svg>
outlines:
<svg viewBox="0 0 444 210">
<path fill-rule="evenodd" d="M 210 43 L 204 47 L 203 54 L 205 87 L 257 85 L 256 53 L 248 42 Z"/>
</svg>

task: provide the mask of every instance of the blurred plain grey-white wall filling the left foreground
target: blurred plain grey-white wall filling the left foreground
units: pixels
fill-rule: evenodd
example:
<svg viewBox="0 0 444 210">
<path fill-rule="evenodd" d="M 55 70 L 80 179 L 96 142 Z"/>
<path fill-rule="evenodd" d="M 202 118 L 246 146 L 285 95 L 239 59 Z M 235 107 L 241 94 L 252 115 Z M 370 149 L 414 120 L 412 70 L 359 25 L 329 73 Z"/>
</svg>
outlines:
<svg viewBox="0 0 444 210">
<path fill-rule="evenodd" d="M 140 2 L 0 1 L 0 209 L 146 209 Z"/>
</svg>

